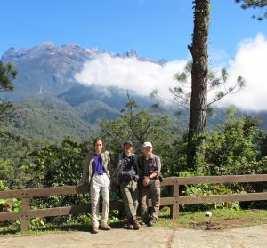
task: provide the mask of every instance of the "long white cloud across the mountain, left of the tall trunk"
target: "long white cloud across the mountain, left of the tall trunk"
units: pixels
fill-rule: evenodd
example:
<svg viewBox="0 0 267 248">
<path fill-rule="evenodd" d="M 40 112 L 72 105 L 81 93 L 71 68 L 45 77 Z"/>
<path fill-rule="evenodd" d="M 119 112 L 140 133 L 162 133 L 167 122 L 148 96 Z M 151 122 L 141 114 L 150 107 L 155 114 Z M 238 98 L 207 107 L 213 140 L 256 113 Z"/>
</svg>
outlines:
<svg viewBox="0 0 267 248">
<path fill-rule="evenodd" d="M 160 95 L 170 98 L 168 89 L 176 85 L 174 74 L 181 72 L 185 64 L 185 60 L 174 60 L 161 66 L 150 61 L 139 61 L 135 57 L 114 58 L 103 53 L 86 62 L 75 77 L 81 84 L 116 85 L 143 96 L 149 96 L 152 90 L 157 89 Z"/>
</svg>

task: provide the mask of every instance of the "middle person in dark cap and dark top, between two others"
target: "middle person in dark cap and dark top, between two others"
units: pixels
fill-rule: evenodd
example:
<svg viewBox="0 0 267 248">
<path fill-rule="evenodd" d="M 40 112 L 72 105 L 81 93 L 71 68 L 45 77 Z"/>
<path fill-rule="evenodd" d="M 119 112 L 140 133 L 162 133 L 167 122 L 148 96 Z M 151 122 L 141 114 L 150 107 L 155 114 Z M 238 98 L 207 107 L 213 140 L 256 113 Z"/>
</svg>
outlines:
<svg viewBox="0 0 267 248">
<path fill-rule="evenodd" d="M 121 195 L 128 219 L 128 228 L 138 230 L 141 228 L 136 219 L 138 207 L 138 167 L 137 156 L 133 154 L 134 144 L 127 140 L 124 143 L 124 153 L 118 155 L 116 182 L 120 186 Z"/>
</svg>

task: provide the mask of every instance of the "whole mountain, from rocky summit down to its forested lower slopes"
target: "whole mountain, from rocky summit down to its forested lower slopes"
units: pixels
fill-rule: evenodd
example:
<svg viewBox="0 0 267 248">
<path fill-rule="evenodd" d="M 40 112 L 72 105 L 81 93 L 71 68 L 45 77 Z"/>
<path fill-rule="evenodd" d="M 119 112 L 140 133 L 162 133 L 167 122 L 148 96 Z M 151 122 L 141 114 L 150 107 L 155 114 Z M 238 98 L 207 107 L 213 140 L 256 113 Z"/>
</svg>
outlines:
<svg viewBox="0 0 267 248">
<path fill-rule="evenodd" d="M 128 100 L 125 90 L 116 86 L 99 87 L 97 82 L 84 86 L 75 78 L 86 61 L 104 53 L 114 58 L 136 58 L 158 65 L 166 63 L 166 60 L 142 58 L 134 50 L 112 54 L 77 44 L 55 46 L 44 43 L 29 49 L 10 48 L 4 52 L 1 60 L 3 63 L 11 61 L 18 71 L 18 77 L 14 81 L 14 92 L 0 92 L 0 97 L 14 101 L 20 109 L 20 115 L 12 123 L 5 124 L 4 128 L 26 137 L 62 140 L 66 135 L 71 135 L 85 140 L 85 137 L 99 130 L 102 119 L 116 119 Z M 155 103 L 149 97 L 129 93 L 141 108 L 150 109 Z M 167 109 L 160 111 L 166 113 Z M 172 113 L 171 110 L 169 112 Z M 249 112 L 249 115 L 260 117 L 263 120 L 262 127 L 267 130 L 267 112 Z M 175 128 L 182 132 L 187 127 L 187 113 L 182 111 L 180 115 L 173 116 Z M 214 126 L 221 123 L 221 116 L 219 114 L 214 120 L 209 119 L 208 124 Z"/>
</svg>

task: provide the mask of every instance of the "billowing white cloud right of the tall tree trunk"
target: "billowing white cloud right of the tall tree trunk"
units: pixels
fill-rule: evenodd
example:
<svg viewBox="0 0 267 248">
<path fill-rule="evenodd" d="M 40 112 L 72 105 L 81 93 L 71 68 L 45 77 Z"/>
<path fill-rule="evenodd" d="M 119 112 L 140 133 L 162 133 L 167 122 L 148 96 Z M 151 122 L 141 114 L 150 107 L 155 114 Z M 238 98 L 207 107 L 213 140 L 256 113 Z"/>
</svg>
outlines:
<svg viewBox="0 0 267 248">
<path fill-rule="evenodd" d="M 235 82 L 243 76 L 246 87 L 239 93 L 228 96 L 220 105 L 234 104 L 247 110 L 267 110 L 267 39 L 258 34 L 239 44 L 234 60 L 229 61 L 229 80 Z"/>
</svg>

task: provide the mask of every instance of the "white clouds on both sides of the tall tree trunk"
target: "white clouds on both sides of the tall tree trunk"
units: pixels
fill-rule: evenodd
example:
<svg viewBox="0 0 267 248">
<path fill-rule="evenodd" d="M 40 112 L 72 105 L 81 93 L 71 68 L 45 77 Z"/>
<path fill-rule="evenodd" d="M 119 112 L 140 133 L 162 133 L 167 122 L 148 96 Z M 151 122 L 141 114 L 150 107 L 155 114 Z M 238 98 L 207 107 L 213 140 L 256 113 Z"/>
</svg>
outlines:
<svg viewBox="0 0 267 248">
<path fill-rule="evenodd" d="M 214 53 L 218 52 L 212 52 L 211 56 Z M 214 60 L 219 58 L 222 61 L 222 57 L 226 60 L 224 50 L 219 53 L 220 56 L 217 54 Z M 149 96 L 152 90 L 157 89 L 162 97 L 172 99 L 168 89 L 178 85 L 174 74 L 181 72 L 186 62 L 174 60 L 161 66 L 150 61 L 139 61 L 135 57 L 119 58 L 102 53 L 86 62 L 76 79 L 81 84 L 118 86 L 143 96 Z M 246 80 L 246 87 L 237 94 L 227 96 L 219 102 L 219 106 L 234 104 L 247 110 L 267 110 L 266 37 L 258 34 L 255 39 L 242 41 L 235 58 L 224 65 L 228 68 L 229 82 L 235 83 L 241 75 Z M 212 99 L 212 94 L 208 99 Z"/>
</svg>

